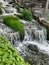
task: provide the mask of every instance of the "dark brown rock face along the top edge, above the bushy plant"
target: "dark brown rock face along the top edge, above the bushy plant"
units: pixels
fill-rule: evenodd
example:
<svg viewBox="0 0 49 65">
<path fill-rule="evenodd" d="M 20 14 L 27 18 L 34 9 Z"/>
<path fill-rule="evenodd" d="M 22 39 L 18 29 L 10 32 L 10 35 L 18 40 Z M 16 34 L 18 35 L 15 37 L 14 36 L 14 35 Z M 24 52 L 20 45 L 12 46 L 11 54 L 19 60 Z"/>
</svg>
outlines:
<svg viewBox="0 0 49 65">
<path fill-rule="evenodd" d="M 46 0 L 15 0 L 24 7 L 45 7 Z"/>
</svg>

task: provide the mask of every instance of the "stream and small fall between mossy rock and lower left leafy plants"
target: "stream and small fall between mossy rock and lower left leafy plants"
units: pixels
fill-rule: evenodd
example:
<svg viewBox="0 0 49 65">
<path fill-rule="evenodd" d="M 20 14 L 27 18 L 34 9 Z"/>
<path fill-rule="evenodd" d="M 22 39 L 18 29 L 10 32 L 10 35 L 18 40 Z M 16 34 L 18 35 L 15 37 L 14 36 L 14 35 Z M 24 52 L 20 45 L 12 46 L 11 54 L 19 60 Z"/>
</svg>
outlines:
<svg viewBox="0 0 49 65">
<path fill-rule="evenodd" d="M 13 31 L 3 23 L 0 23 L 0 34 L 6 36 L 13 45 L 16 45 L 17 42 L 20 41 L 19 33 Z"/>
</svg>

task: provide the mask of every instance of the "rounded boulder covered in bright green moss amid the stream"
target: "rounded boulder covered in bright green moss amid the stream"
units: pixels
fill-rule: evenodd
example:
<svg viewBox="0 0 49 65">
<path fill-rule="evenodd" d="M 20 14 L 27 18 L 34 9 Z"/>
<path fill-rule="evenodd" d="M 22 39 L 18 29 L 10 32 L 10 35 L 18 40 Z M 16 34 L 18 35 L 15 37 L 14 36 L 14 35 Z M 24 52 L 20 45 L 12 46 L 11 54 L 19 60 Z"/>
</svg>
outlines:
<svg viewBox="0 0 49 65">
<path fill-rule="evenodd" d="M 11 27 L 15 31 L 19 31 L 20 34 L 20 40 L 22 41 L 24 39 L 24 26 L 23 24 L 19 21 L 18 17 L 15 16 L 4 16 L 3 17 L 3 23 Z"/>
</svg>

